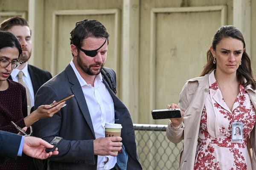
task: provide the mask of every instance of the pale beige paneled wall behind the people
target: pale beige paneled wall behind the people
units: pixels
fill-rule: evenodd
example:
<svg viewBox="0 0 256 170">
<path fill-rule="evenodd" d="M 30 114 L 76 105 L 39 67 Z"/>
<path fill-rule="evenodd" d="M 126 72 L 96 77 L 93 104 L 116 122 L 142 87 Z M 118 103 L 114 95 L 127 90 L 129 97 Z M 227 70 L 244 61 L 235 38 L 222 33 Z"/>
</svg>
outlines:
<svg viewBox="0 0 256 170">
<path fill-rule="evenodd" d="M 134 123 L 177 103 L 186 79 L 198 76 L 215 31 L 235 25 L 256 66 L 256 0 L 0 0 L 0 22 L 25 17 L 32 29 L 30 64 L 53 75 L 71 61 L 70 31 L 84 19 L 111 34 L 105 64 L 117 73 L 118 96 Z"/>
</svg>

